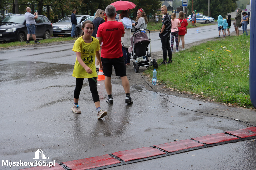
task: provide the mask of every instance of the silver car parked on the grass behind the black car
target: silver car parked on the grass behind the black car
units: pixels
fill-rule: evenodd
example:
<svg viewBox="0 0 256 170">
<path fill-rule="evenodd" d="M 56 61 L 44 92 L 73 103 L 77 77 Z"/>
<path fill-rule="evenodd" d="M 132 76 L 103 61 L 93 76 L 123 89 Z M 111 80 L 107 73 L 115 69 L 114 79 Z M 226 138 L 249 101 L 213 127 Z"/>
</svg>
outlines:
<svg viewBox="0 0 256 170">
<path fill-rule="evenodd" d="M 81 22 L 90 18 L 90 15 L 76 15 L 77 17 L 77 29 L 76 29 L 76 37 L 81 33 Z M 57 37 L 58 35 L 70 35 L 72 31 L 72 24 L 71 24 L 71 15 L 68 15 L 62 18 L 59 22 L 53 23 L 53 35 Z"/>
</svg>

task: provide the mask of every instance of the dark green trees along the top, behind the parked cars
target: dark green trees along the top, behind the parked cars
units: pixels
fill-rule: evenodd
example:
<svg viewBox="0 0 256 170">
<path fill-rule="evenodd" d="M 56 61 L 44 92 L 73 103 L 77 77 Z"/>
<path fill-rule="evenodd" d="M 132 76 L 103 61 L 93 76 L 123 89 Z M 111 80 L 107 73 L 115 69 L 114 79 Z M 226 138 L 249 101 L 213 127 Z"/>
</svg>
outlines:
<svg viewBox="0 0 256 170">
<path fill-rule="evenodd" d="M 35 5 L 35 11 L 37 10 L 39 15 L 47 16 L 47 6 L 50 6 L 49 19 L 56 21 L 64 16 L 71 15 L 73 9 L 77 10 L 77 14 L 94 16 L 97 9 L 105 10 L 113 2 L 116 2 L 116 0 L 0 0 L 0 9 L 12 13 L 13 5 L 11 4 L 23 4 L 18 5 L 18 13 L 25 14 L 27 7 L 31 8 Z M 159 0 L 133 0 L 132 2 L 136 5 L 135 9 L 130 9 L 132 18 L 136 18 L 137 10 L 140 8 L 144 9 L 146 14 L 150 16 L 161 7 Z M 121 13 L 121 11 L 117 12 Z"/>
</svg>

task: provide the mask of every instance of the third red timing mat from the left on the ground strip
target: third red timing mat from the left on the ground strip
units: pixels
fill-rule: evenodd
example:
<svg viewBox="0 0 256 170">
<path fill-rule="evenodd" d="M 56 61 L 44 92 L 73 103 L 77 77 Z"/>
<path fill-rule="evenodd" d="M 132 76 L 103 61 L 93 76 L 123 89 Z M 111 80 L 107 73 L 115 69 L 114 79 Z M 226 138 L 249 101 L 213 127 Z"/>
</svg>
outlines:
<svg viewBox="0 0 256 170">
<path fill-rule="evenodd" d="M 131 161 L 135 159 L 141 159 L 141 158 L 165 154 L 165 152 L 152 147 L 143 147 L 138 149 L 119 151 L 112 154 L 120 157 L 124 161 Z"/>
</svg>

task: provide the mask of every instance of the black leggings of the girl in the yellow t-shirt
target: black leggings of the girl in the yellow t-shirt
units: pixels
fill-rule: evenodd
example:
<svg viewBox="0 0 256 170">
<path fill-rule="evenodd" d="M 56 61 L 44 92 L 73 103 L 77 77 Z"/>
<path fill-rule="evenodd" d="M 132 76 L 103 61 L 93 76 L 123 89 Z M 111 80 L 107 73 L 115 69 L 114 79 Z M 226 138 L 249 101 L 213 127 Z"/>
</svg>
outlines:
<svg viewBox="0 0 256 170">
<path fill-rule="evenodd" d="M 99 102 L 100 97 L 97 90 L 97 77 L 88 78 L 90 90 L 92 93 L 93 102 Z M 74 92 L 74 98 L 79 99 L 81 89 L 83 87 L 83 78 L 76 78 L 76 88 Z"/>
</svg>

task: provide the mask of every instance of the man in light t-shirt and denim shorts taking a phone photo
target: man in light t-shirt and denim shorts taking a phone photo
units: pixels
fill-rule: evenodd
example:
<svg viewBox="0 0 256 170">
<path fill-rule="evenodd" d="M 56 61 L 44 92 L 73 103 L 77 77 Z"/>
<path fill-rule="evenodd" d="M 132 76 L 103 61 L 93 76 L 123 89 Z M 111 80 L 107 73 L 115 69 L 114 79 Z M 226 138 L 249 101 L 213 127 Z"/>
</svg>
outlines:
<svg viewBox="0 0 256 170">
<path fill-rule="evenodd" d="M 32 37 L 35 41 L 36 44 L 39 44 L 40 42 L 36 41 L 36 21 L 35 19 L 38 18 L 37 12 L 33 15 L 31 14 L 31 9 L 27 7 L 27 12 L 25 14 L 25 19 L 26 19 L 26 25 L 28 29 L 28 34 L 27 34 L 27 44 L 31 44 L 29 42 L 30 34 L 32 33 Z"/>
</svg>

